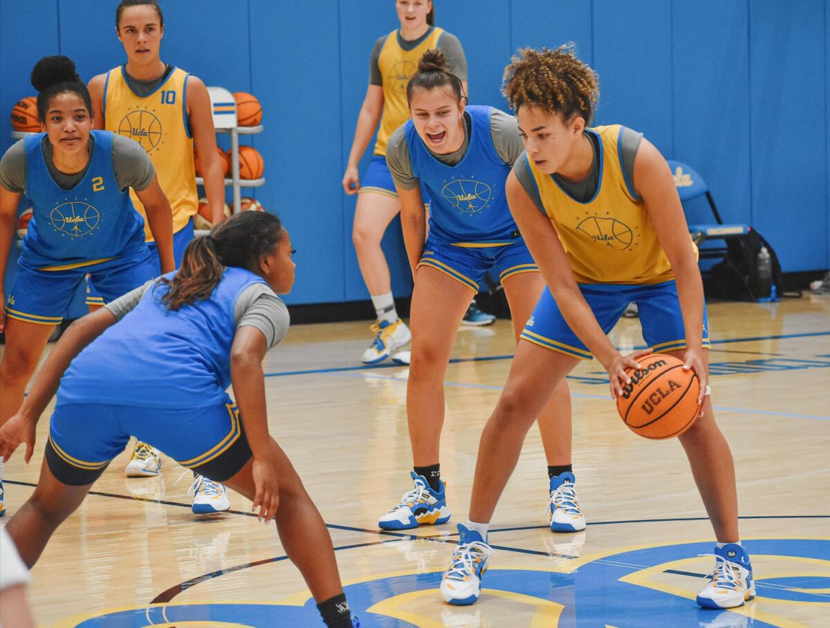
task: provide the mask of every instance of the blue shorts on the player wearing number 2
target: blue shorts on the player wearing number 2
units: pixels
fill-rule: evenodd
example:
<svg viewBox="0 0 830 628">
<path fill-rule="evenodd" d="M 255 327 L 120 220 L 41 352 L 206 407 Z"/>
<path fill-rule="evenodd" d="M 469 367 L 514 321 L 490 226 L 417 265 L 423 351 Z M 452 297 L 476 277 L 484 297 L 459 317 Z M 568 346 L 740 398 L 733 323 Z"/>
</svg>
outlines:
<svg viewBox="0 0 830 628">
<path fill-rule="evenodd" d="M 76 268 L 37 270 L 22 260 L 17 260 L 17 265 L 6 314 L 12 319 L 41 325 L 61 323 L 87 274 L 98 285 L 106 302 L 118 299 L 155 276 L 152 256 L 146 246 L 129 257 L 115 257 Z"/>
</svg>

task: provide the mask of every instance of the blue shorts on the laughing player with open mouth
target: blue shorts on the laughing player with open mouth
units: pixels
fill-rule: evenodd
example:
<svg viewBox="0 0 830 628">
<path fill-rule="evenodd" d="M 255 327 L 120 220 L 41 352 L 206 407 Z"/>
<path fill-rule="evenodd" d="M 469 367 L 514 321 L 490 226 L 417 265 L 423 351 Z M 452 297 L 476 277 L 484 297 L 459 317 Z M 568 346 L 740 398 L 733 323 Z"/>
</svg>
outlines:
<svg viewBox="0 0 830 628">
<path fill-rule="evenodd" d="M 504 281 L 519 273 L 539 272 L 524 238 L 502 246 L 461 246 L 433 241 L 427 236 L 418 267 L 430 266 L 466 285 L 478 294 L 488 270 L 496 270 Z"/>
</svg>

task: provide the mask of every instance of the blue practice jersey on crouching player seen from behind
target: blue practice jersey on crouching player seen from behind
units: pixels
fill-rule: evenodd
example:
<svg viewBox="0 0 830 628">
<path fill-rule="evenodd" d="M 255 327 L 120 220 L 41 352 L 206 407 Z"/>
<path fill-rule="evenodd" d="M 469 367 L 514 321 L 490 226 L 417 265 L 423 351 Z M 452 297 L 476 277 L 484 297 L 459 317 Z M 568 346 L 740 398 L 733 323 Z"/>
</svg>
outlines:
<svg viewBox="0 0 830 628">
<path fill-rule="evenodd" d="M 257 282 L 265 283 L 248 270 L 228 267 L 208 299 L 178 310 L 161 302 L 168 286 L 154 284 L 72 360 L 58 402 L 179 409 L 227 402 L 237 333 L 233 310 L 242 290 Z"/>
</svg>

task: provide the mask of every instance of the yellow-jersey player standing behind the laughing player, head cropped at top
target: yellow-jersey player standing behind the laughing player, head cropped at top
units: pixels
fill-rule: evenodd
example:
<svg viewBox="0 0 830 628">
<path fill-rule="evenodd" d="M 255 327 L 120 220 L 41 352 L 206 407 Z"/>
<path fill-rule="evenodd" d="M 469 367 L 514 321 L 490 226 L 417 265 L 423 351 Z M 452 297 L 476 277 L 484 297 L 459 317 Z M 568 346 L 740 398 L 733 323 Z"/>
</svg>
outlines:
<svg viewBox="0 0 830 628">
<path fill-rule="evenodd" d="M 386 165 L 386 143 L 393 131 L 409 118 L 407 84 L 423 53 L 437 48 L 447 58 L 450 69 L 464 82 L 466 90 L 466 58 L 461 42 L 451 33 L 434 26 L 432 0 L 397 0 L 395 8 L 400 28 L 375 42 L 369 61 L 369 88 L 360 108 L 342 182 L 347 194 L 359 194 L 352 239 L 360 272 L 378 317 L 372 328 L 377 335 L 363 354 L 363 362 L 368 364 L 383 362 L 412 338 L 395 310 L 389 267 L 380 247 L 383 233 L 401 211 L 398 192 Z M 361 179 L 358 162 L 375 129 L 378 129 L 378 138 L 374 157 Z M 495 320 L 475 308 L 467 318 L 472 324 Z M 403 355 L 403 361 L 408 363 L 408 352 Z"/>
</svg>

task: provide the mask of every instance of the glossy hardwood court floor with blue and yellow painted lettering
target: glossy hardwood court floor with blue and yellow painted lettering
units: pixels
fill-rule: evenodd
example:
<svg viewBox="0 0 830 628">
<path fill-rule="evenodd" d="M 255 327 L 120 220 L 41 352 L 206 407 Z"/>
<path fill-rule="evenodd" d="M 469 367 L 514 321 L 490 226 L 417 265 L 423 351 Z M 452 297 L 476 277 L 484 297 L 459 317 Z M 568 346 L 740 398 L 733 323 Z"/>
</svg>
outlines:
<svg viewBox="0 0 830 628">
<path fill-rule="evenodd" d="M 754 601 L 724 612 L 694 601 L 713 560 L 697 555 L 713 543 L 680 445 L 628 431 L 597 363 L 581 363 L 570 379 L 588 529 L 546 528 L 544 455 L 531 431 L 493 521 L 481 601 L 443 604 L 436 587 L 454 523 L 466 519 L 481 426 L 510 366 L 510 324 L 458 333 L 442 441 L 454 517 L 411 534 L 376 528 L 411 486 L 407 369 L 356 363 L 366 324 L 291 329 L 266 359 L 271 433 L 330 524 L 364 626 L 830 625 L 830 297 L 709 312 L 713 402 L 735 455 L 758 582 Z M 613 340 L 642 344 L 637 321 L 623 319 Z M 46 426 L 32 465 L 18 453 L 6 466 L 9 515 L 37 481 Z M 128 480 L 126 460 L 115 460 L 32 571 L 40 625 L 322 625 L 275 529 L 249 516 L 247 500 L 234 494 L 232 512 L 195 517 L 177 465 L 165 460 L 161 477 Z"/>
</svg>

